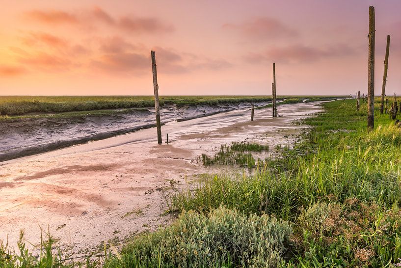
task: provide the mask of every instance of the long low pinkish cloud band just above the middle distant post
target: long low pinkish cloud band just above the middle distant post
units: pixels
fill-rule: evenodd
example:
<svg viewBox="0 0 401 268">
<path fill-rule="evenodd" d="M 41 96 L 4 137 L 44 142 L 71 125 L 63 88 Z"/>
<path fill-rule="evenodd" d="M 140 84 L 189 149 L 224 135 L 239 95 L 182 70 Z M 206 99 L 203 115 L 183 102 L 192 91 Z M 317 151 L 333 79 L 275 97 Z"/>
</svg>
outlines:
<svg viewBox="0 0 401 268">
<path fill-rule="evenodd" d="M 262 53 L 250 53 L 245 60 L 251 63 L 260 62 L 313 62 L 328 57 L 344 57 L 353 55 L 356 50 L 344 44 L 330 45 L 325 48 L 316 48 L 305 45 L 292 45 L 287 47 L 271 47 Z"/>
</svg>

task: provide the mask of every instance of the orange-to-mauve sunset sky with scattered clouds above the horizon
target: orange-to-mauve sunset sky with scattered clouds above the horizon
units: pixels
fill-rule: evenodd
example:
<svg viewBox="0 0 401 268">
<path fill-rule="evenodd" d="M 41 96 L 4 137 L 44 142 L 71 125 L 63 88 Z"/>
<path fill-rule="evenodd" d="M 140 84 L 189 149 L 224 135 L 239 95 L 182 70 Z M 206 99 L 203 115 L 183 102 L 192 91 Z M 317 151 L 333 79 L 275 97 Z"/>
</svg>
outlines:
<svg viewBox="0 0 401 268">
<path fill-rule="evenodd" d="M 400 0 L 0 0 L 0 95 L 401 94 Z"/>
</svg>

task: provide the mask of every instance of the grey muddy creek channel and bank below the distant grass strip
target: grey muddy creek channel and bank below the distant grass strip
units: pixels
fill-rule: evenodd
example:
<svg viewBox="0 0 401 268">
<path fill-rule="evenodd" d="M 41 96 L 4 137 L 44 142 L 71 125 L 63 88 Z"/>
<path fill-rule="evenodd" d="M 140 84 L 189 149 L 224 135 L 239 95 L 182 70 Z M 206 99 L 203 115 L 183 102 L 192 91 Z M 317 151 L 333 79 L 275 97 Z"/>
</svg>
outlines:
<svg viewBox="0 0 401 268">
<path fill-rule="evenodd" d="M 256 106 L 267 105 L 256 103 Z M 162 123 L 209 116 L 215 113 L 246 110 L 251 103 L 198 105 L 160 109 Z M 60 149 L 88 141 L 101 140 L 154 126 L 154 109 L 135 110 L 112 116 L 75 118 L 33 118 L 0 124 L 0 161 Z"/>
</svg>

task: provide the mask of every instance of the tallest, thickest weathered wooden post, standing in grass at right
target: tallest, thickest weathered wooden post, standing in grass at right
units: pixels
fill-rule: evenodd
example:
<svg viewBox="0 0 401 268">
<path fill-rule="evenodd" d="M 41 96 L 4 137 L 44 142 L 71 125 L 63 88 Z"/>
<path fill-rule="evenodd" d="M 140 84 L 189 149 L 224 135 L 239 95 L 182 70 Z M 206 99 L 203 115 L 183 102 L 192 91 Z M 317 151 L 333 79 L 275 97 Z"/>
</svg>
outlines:
<svg viewBox="0 0 401 268">
<path fill-rule="evenodd" d="M 368 129 L 374 128 L 374 7 L 369 7 Z"/>
</svg>

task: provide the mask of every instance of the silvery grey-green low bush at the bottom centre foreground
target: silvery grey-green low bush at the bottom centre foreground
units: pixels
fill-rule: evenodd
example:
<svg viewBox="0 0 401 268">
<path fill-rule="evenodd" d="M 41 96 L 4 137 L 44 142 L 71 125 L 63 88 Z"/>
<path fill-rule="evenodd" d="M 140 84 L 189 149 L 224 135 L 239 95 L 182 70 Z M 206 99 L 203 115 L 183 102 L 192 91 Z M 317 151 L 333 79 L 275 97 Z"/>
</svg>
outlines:
<svg viewBox="0 0 401 268">
<path fill-rule="evenodd" d="M 122 267 L 277 267 L 292 228 L 266 214 L 249 216 L 220 207 L 208 215 L 184 212 L 171 226 L 134 240 L 119 258 Z"/>
</svg>

